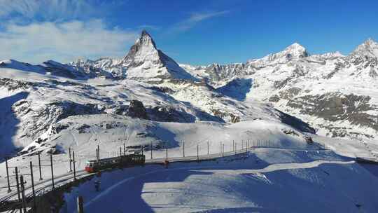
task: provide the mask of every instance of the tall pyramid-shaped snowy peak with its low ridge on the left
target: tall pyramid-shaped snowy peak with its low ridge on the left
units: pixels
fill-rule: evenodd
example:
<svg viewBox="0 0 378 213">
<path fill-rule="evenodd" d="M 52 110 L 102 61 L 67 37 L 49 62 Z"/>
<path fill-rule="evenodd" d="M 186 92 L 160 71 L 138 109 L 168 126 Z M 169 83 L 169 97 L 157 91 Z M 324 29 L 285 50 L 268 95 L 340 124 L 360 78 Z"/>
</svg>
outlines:
<svg viewBox="0 0 378 213">
<path fill-rule="evenodd" d="M 102 58 L 99 60 L 78 60 L 71 65 L 84 69 L 102 69 L 113 77 L 137 79 L 140 81 L 160 81 L 165 78 L 191 79 L 172 58 L 158 50 L 148 32 L 143 31 L 129 53 L 120 60 Z"/>
</svg>

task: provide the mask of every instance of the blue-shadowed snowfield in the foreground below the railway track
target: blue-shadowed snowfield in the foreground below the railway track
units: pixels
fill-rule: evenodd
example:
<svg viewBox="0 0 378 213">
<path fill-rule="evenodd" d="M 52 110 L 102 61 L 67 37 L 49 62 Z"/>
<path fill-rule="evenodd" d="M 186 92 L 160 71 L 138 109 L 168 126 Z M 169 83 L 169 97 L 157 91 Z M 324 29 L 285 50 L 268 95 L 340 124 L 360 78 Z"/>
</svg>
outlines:
<svg viewBox="0 0 378 213">
<path fill-rule="evenodd" d="M 256 149 L 167 169 L 103 173 L 66 194 L 62 212 L 74 212 L 77 195 L 89 212 L 375 212 L 376 186 L 377 177 L 330 151 Z"/>
</svg>

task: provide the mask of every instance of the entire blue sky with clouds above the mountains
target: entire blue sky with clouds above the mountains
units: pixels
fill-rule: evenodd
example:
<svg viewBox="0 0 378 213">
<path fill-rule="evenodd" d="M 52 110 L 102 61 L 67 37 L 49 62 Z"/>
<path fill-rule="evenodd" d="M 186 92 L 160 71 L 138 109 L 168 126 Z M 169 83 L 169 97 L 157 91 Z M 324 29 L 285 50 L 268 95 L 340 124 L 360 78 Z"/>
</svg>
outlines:
<svg viewBox="0 0 378 213">
<path fill-rule="evenodd" d="M 245 62 L 302 44 L 350 53 L 378 40 L 378 1 L 0 0 L 1 59 L 123 57 L 147 29 L 177 62 Z"/>
</svg>

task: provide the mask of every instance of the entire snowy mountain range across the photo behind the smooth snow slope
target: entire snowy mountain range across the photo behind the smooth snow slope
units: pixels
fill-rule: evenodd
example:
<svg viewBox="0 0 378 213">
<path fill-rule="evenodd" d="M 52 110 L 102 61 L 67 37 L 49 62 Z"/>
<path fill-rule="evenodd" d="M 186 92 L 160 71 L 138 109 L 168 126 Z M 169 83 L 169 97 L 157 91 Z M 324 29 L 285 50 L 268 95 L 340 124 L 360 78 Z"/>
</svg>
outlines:
<svg viewBox="0 0 378 213">
<path fill-rule="evenodd" d="M 143 31 L 121 59 L 3 60 L 0 74 L 1 156 L 59 151 L 51 141 L 68 128 L 64 119 L 97 114 L 213 125 L 266 120 L 328 137 L 378 136 L 372 39 L 349 55 L 310 55 L 293 43 L 245 63 L 193 66 L 175 62 Z"/>
</svg>

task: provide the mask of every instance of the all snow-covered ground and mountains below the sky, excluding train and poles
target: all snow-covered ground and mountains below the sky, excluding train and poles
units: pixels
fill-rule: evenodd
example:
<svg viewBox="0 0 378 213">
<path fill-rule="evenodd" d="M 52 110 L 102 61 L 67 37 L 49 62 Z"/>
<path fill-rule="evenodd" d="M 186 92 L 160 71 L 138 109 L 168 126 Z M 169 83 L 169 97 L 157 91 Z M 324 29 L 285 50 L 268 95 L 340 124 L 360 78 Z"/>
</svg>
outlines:
<svg viewBox="0 0 378 213">
<path fill-rule="evenodd" d="M 377 50 L 367 40 L 351 55 L 309 55 L 294 43 L 246 63 L 192 66 L 142 32 L 122 59 L 3 60 L 0 185 L 7 157 L 10 185 L 14 167 L 28 174 L 32 162 L 48 191 L 50 156 L 59 186 L 73 180 L 70 151 L 85 177 L 97 147 L 100 158 L 143 149 L 144 167 L 71 188 L 60 212 L 75 212 L 78 195 L 85 212 L 378 212 L 377 167 L 354 161 L 378 157 Z M 167 154 L 169 167 L 158 165 Z"/>
</svg>

